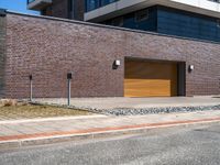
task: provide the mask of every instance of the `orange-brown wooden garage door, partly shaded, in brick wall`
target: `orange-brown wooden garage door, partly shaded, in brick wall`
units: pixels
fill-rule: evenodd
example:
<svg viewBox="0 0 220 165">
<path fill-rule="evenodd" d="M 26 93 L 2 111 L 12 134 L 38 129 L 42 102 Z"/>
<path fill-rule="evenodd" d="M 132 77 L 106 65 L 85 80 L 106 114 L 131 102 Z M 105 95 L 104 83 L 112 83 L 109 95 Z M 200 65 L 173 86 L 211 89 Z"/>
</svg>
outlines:
<svg viewBox="0 0 220 165">
<path fill-rule="evenodd" d="M 177 96 L 177 64 L 125 61 L 124 97 Z"/>
</svg>

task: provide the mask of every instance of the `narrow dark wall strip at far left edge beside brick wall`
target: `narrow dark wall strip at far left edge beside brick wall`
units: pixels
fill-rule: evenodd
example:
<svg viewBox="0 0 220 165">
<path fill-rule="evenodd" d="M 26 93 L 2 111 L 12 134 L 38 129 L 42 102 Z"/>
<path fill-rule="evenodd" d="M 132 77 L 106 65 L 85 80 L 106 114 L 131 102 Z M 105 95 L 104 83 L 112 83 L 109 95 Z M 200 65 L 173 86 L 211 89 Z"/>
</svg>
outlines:
<svg viewBox="0 0 220 165">
<path fill-rule="evenodd" d="M 0 98 L 4 94 L 6 16 L 0 15 Z"/>
</svg>

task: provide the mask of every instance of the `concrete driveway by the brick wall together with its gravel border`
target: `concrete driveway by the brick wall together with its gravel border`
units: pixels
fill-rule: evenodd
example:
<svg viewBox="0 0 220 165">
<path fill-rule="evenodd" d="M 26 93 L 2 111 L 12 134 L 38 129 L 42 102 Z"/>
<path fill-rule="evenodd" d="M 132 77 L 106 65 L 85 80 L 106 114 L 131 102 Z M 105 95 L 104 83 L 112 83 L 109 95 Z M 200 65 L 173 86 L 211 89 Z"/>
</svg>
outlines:
<svg viewBox="0 0 220 165">
<path fill-rule="evenodd" d="M 35 103 L 65 106 L 66 99 L 34 99 Z M 73 98 L 70 108 L 106 116 L 145 116 L 165 112 L 219 110 L 219 96 L 164 98 Z"/>
</svg>

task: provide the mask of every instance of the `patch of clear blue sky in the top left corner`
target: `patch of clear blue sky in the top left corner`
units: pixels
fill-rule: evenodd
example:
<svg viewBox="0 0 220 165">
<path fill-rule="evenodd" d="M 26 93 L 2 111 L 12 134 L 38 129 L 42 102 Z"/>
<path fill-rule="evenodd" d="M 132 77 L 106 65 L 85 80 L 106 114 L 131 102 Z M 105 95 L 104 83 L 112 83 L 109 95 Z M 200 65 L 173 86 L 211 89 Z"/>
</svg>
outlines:
<svg viewBox="0 0 220 165">
<path fill-rule="evenodd" d="M 38 13 L 26 9 L 26 0 L 0 0 L 0 8 L 22 13 Z"/>
</svg>

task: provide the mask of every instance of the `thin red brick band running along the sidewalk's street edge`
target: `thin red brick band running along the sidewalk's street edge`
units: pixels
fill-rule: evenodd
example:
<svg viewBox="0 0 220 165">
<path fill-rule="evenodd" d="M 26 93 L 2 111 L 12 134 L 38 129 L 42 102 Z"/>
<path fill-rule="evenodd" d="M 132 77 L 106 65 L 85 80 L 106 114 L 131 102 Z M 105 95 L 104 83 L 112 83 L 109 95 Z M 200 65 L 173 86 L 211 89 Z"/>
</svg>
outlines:
<svg viewBox="0 0 220 165">
<path fill-rule="evenodd" d="M 34 133 L 34 134 L 22 134 L 22 135 L 8 135 L 0 136 L 0 142 L 13 141 L 13 140 L 29 140 L 29 139 L 37 139 L 37 138 L 53 138 L 58 135 L 80 135 L 88 133 L 105 133 L 108 131 L 125 131 L 129 129 L 150 129 L 157 127 L 172 127 L 177 124 L 190 124 L 198 122 L 211 122 L 211 121 L 220 121 L 220 118 L 209 118 L 209 119 L 198 119 L 198 120 L 184 120 L 184 121 L 172 121 L 172 122 L 161 122 L 161 123 L 145 123 L 145 124 L 135 124 L 135 125 L 122 125 L 122 127 L 108 127 L 108 128 L 95 128 L 95 129 L 86 129 L 86 130 L 70 130 L 70 131 L 59 131 L 59 132 L 48 132 L 48 133 Z"/>
</svg>

